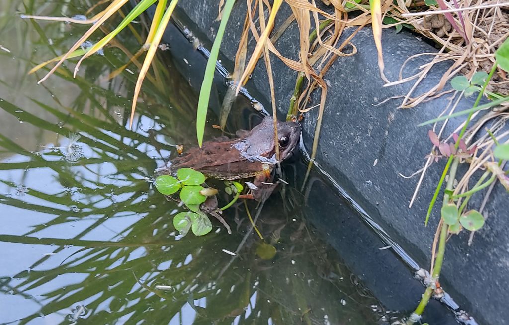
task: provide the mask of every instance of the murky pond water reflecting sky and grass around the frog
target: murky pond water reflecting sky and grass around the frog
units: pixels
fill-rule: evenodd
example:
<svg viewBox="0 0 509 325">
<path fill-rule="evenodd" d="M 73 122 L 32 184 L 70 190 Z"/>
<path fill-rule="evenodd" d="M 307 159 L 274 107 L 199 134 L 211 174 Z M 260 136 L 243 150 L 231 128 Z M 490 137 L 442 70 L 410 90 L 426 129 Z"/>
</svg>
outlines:
<svg viewBox="0 0 509 325">
<path fill-rule="evenodd" d="M 377 299 L 306 222 L 292 186 L 262 208 L 265 241 L 242 204 L 225 213 L 232 235 L 215 220 L 204 237 L 178 235 L 172 218 L 183 208 L 151 182 L 176 143 L 195 143 L 197 93 L 161 50 L 129 129 L 137 67 L 110 74 L 138 50 L 143 24 L 76 78 L 74 61 L 37 85 L 46 70 L 29 70 L 87 27 L 19 14 L 73 16 L 86 4 L 0 3 L 0 323 L 385 323 Z M 232 130 L 259 119 L 242 99 L 233 112 Z M 206 137 L 219 135 L 210 125 Z M 275 257 L 261 258 L 269 245 Z"/>
</svg>

